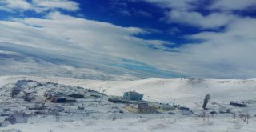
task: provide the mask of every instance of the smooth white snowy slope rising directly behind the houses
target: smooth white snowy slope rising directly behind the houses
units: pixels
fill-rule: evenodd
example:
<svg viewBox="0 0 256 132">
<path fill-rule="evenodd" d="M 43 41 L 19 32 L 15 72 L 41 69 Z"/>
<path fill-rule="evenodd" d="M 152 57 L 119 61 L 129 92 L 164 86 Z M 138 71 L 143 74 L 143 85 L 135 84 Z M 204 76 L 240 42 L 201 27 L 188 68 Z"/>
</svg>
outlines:
<svg viewBox="0 0 256 132">
<path fill-rule="evenodd" d="M 218 79 L 161 79 L 150 78 L 136 81 L 101 81 L 73 78 L 42 78 L 33 76 L 2 76 L 0 83 L 15 82 L 19 79 L 50 81 L 71 86 L 82 86 L 92 90 L 106 89 L 109 95 L 122 96 L 123 92 L 136 90 L 144 94 L 144 98 L 153 102 L 169 102 L 192 105 L 202 102 L 206 94 L 211 101 L 226 102 L 256 99 L 256 79 L 250 80 L 218 80 Z"/>
</svg>

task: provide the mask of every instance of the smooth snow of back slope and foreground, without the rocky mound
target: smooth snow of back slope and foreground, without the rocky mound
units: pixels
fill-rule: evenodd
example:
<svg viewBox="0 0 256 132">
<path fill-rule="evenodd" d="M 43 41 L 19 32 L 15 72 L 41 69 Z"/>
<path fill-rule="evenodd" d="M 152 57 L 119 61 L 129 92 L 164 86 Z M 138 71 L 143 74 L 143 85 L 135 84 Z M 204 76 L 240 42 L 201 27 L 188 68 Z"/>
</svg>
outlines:
<svg viewBox="0 0 256 132">
<path fill-rule="evenodd" d="M 106 94 L 122 96 L 123 92 L 136 90 L 144 94 L 144 99 L 152 102 L 168 102 L 188 106 L 195 114 L 202 114 L 202 102 L 210 94 L 209 111 L 230 109 L 233 114 L 209 114 L 206 119 L 197 115 L 175 114 L 117 114 L 113 111 L 103 114 L 102 106 L 88 107 L 103 110 L 94 116 L 74 115 L 55 122 L 54 117 L 29 118 L 26 124 L 15 124 L 0 128 L 2 131 L 22 132 L 46 131 L 256 131 L 256 79 L 216 80 L 216 79 L 161 79 L 150 78 L 136 81 L 100 81 L 61 77 L 2 76 L 0 88 L 22 79 L 38 82 L 55 82 L 63 85 L 82 86 L 91 90 L 106 90 Z M 1 90 L 2 92 L 4 90 Z M 250 102 L 248 107 L 230 106 L 230 102 Z M 110 102 L 104 102 L 110 104 Z M 113 104 L 115 105 L 115 104 Z M 122 109 L 122 105 L 118 106 Z M 243 122 L 238 113 L 250 114 L 249 124 Z M 209 118 L 208 118 L 209 116 Z"/>
</svg>

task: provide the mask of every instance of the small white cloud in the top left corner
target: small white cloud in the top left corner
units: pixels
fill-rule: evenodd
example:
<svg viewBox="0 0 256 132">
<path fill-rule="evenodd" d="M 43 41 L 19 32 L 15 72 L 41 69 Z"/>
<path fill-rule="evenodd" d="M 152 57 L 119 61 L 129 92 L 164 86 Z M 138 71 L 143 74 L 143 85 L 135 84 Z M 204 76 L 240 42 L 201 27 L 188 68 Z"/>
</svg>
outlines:
<svg viewBox="0 0 256 132">
<path fill-rule="evenodd" d="M 36 12 L 44 12 L 47 10 L 79 10 L 78 3 L 70 0 L 1 0 L 0 10 L 9 12 L 21 12 L 34 10 Z"/>
</svg>

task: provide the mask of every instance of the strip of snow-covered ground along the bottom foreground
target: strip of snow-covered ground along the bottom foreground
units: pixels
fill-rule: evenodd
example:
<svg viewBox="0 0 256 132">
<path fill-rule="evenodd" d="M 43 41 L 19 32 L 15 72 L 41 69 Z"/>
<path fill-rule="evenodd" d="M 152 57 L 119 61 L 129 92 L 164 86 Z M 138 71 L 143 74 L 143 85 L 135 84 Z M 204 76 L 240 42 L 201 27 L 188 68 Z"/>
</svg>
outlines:
<svg viewBox="0 0 256 132">
<path fill-rule="evenodd" d="M 255 120 L 246 124 L 240 119 L 231 118 L 210 118 L 210 121 L 203 122 L 202 118 L 151 118 L 151 119 L 117 119 L 110 120 L 86 120 L 79 119 L 76 122 L 45 122 L 45 123 L 29 123 L 17 124 L 10 126 L 8 129 L 16 129 L 26 132 L 144 132 L 144 131 L 218 131 L 218 132 L 234 132 L 234 131 L 255 131 Z M 8 130 L 5 128 L 5 130 Z"/>
</svg>

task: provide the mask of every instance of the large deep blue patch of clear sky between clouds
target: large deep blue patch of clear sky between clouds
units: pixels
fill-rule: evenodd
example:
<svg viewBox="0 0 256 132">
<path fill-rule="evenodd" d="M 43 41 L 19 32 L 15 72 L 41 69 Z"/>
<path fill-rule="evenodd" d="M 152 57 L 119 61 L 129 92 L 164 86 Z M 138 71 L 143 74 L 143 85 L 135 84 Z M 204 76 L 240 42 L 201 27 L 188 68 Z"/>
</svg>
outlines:
<svg viewBox="0 0 256 132">
<path fill-rule="evenodd" d="M 101 22 L 110 22 L 118 26 L 134 26 L 151 30 L 152 34 L 137 34 L 139 38 L 159 39 L 176 44 L 184 44 L 185 34 L 198 33 L 198 28 L 167 23 L 161 19 L 165 17 L 168 8 L 162 9 L 153 3 L 144 1 L 77 1 L 81 3 L 81 14 Z M 168 48 L 168 45 L 166 46 Z"/>
</svg>

